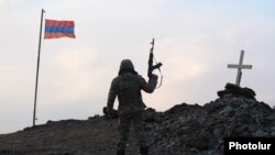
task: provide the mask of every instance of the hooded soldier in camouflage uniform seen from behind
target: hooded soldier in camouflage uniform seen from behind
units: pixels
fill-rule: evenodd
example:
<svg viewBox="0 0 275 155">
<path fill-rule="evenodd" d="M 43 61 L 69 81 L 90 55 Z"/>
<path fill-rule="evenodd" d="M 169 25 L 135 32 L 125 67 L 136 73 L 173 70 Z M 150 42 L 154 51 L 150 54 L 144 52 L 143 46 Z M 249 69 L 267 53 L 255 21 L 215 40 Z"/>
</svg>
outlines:
<svg viewBox="0 0 275 155">
<path fill-rule="evenodd" d="M 120 64 L 119 76 L 112 80 L 107 111 L 113 110 L 113 102 L 119 100 L 119 143 L 117 155 L 125 155 L 125 143 L 130 133 L 131 122 L 140 145 L 140 153 L 147 155 L 147 145 L 144 135 L 143 111 L 146 108 L 142 100 L 141 90 L 152 93 L 157 84 L 157 76 L 152 75 L 148 82 L 138 75 L 130 59 L 123 59 Z"/>
</svg>

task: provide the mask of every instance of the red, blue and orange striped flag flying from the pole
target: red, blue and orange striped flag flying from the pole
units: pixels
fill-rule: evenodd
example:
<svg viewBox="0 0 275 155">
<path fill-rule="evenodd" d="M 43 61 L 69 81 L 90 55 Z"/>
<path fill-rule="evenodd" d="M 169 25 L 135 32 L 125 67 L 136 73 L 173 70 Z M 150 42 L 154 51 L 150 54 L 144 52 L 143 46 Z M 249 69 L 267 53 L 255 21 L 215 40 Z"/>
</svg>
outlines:
<svg viewBox="0 0 275 155">
<path fill-rule="evenodd" d="M 74 21 L 45 21 L 44 38 L 72 37 L 75 38 L 75 22 Z"/>
</svg>

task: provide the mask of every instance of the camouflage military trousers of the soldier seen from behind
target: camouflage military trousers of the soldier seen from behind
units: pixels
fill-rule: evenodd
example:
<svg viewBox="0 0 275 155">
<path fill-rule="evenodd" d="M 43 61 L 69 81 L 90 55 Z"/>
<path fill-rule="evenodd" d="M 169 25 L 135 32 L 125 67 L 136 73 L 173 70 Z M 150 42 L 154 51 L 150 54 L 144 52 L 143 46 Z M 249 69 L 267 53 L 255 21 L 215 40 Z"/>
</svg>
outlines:
<svg viewBox="0 0 275 155">
<path fill-rule="evenodd" d="M 140 147 L 146 146 L 143 112 L 119 115 L 119 143 L 118 148 L 124 150 L 129 139 L 131 124 Z"/>
</svg>

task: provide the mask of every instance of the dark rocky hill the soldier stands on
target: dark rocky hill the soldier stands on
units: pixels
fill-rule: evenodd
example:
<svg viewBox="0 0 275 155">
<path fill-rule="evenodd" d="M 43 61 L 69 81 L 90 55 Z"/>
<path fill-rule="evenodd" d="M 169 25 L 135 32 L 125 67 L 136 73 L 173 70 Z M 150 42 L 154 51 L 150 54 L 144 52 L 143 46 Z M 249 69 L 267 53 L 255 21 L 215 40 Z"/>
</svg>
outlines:
<svg viewBox="0 0 275 155">
<path fill-rule="evenodd" d="M 147 109 L 146 134 L 152 155 L 223 154 L 226 136 L 275 137 L 275 111 L 255 99 L 255 92 L 228 84 L 215 101 L 177 104 L 165 112 Z M 118 119 L 48 121 L 0 135 L 0 155 L 116 154 Z M 138 154 L 133 131 L 127 153 Z"/>
</svg>

